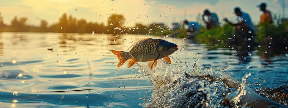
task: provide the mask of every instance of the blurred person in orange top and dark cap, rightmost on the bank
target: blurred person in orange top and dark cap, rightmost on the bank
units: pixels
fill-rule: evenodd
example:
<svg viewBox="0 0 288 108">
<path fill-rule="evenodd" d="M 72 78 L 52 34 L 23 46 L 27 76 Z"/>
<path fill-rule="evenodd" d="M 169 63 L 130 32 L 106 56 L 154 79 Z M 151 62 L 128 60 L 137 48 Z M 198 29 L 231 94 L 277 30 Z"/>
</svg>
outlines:
<svg viewBox="0 0 288 108">
<path fill-rule="evenodd" d="M 266 10 L 266 3 L 262 2 L 261 4 L 257 5 L 258 7 L 260 7 L 260 10 L 263 11 L 264 13 L 261 15 L 261 19 L 260 22 L 261 23 L 269 23 L 272 24 L 272 15 L 271 12 Z"/>
</svg>

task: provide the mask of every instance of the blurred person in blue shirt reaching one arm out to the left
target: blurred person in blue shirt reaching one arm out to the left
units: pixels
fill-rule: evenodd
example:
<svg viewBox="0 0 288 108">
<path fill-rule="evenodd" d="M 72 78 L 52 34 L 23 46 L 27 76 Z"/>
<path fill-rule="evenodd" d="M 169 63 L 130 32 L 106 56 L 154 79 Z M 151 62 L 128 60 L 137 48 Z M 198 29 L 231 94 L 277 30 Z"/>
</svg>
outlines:
<svg viewBox="0 0 288 108">
<path fill-rule="evenodd" d="M 224 18 L 224 21 L 226 21 L 228 24 L 232 26 L 236 26 L 236 30 L 240 32 L 243 41 L 254 43 L 253 37 L 255 36 L 256 31 L 250 18 L 250 15 L 245 12 L 242 12 L 240 10 L 240 7 L 236 7 L 234 9 L 234 12 L 237 15 L 238 23 L 236 24 L 231 23 L 228 21 L 227 18 Z"/>
</svg>

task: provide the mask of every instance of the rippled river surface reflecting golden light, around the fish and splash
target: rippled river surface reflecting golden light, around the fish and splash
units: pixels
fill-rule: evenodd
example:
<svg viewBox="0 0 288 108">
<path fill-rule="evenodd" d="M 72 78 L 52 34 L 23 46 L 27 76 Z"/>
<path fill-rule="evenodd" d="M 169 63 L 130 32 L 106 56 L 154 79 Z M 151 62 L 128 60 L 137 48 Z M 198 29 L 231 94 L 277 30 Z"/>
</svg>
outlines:
<svg viewBox="0 0 288 108">
<path fill-rule="evenodd" d="M 121 67 L 118 71 L 118 60 L 108 50 L 126 51 L 144 37 L 2 32 L 0 103 L 2 107 L 142 107 L 144 102 L 151 101 L 151 89 L 156 89 L 140 73 L 139 66 L 146 64 L 140 62 L 138 67 Z M 178 46 L 183 44 L 182 39 L 166 40 Z M 228 67 L 226 71 L 239 81 L 250 72 L 247 83 L 252 89 L 273 89 L 288 81 L 288 58 L 284 55 L 262 58 L 257 50 L 211 48 L 187 40 L 183 47 L 181 52 L 171 55 L 170 67 L 185 67 L 187 72 L 195 68 L 193 64 L 199 69 Z"/>
</svg>

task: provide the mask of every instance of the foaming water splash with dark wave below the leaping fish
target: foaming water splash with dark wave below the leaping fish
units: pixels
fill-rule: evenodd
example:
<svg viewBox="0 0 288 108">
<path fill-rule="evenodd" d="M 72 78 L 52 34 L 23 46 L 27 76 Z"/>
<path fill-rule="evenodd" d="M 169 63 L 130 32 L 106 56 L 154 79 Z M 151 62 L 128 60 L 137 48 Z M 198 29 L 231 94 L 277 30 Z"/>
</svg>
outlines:
<svg viewBox="0 0 288 108">
<path fill-rule="evenodd" d="M 197 62 L 198 59 L 191 72 L 181 62 L 174 65 L 158 62 L 153 71 L 138 64 L 139 72 L 155 88 L 151 98 L 142 105 L 147 108 L 281 106 L 261 97 L 246 85 L 251 73 L 246 73 L 240 82 L 225 71 L 228 68 L 198 69 Z"/>
</svg>

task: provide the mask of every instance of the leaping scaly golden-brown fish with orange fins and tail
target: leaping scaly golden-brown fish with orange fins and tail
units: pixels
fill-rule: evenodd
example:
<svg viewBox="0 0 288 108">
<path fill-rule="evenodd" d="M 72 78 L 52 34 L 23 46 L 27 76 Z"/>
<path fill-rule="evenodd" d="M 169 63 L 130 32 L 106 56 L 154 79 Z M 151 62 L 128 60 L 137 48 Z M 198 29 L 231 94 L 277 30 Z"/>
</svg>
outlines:
<svg viewBox="0 0 288 108">
<path fill-rule="evenodd" d="M 148 66 L 152 70 L 156 67 L 157 60 L 163 58 L 166 63 L 171 64 L 169 55 L 177 51 L 178 46 L 162 39 L 143 38 L 131 46 L 129 52 L 109 50 L 117 56 L 119 63 L 116 67 L 123 65 L 127 60 L 128 68 L 138 61 L 149 61 Z"/>
</svg>

